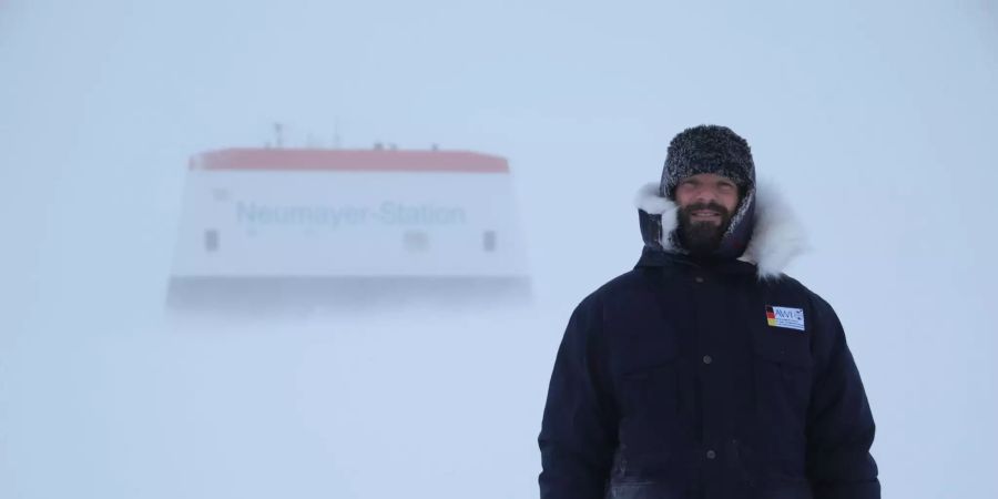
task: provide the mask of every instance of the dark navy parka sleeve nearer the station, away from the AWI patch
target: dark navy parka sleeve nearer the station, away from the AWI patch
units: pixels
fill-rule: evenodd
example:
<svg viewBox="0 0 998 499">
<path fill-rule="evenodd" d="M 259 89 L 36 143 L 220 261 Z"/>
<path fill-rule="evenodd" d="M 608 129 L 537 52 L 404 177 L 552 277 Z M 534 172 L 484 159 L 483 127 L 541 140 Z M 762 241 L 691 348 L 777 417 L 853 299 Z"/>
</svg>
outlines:
<svg viewBox="0 0 998 499">
<path fill-rule="evenodd" d="M 610 394 L 601 318 L 583 301 L 566 328 L 538 437 L 541 499 L 600 499 L 617 449 L 615 405 Z"/>
</svg>

